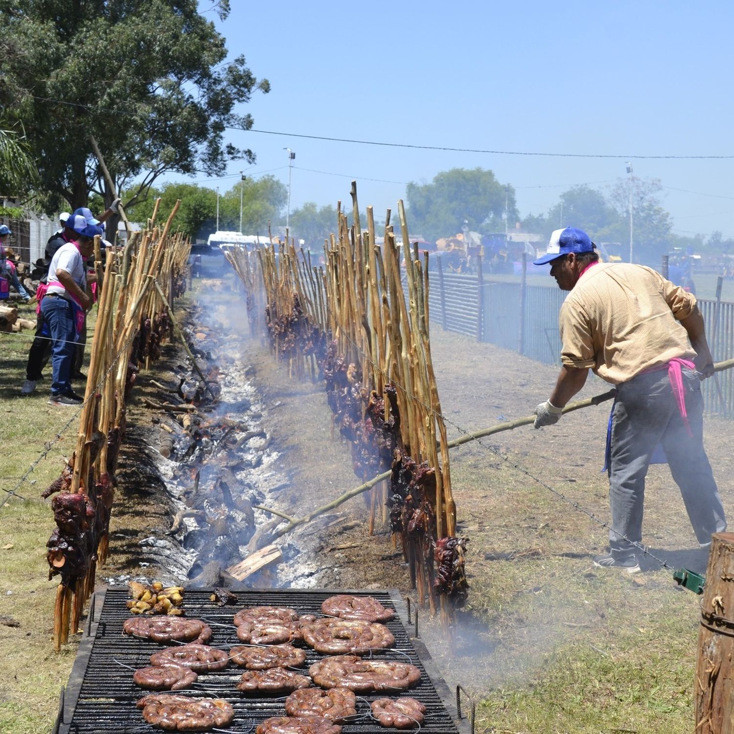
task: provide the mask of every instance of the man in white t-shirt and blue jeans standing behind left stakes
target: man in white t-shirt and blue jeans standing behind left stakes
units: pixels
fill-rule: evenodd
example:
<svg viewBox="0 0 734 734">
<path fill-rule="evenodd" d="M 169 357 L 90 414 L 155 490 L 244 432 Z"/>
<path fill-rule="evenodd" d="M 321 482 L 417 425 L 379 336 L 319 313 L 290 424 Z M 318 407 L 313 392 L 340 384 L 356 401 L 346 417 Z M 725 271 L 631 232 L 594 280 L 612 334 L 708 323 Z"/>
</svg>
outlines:
<svg viewBox="0 0 734 734">
<path fill-rule="evenodd" d="M 92 217 L 90 217 L 92 219 Z M 73 239 L 59 247 L 48 267 L 48 288 L 41 301 L 41 314 L 51 337 L 52 405 L 78 405 L 82 402 L 71 387 L 74 347 L 84 326 L 86 312 L 92 305 L 87 296 L 87 272 L 84 258 L 94 252 L 94 238 L 101 235 L 99 225 L 92 225 L 82 214 L 72 214 L 65 231 Z"/>
</svg>

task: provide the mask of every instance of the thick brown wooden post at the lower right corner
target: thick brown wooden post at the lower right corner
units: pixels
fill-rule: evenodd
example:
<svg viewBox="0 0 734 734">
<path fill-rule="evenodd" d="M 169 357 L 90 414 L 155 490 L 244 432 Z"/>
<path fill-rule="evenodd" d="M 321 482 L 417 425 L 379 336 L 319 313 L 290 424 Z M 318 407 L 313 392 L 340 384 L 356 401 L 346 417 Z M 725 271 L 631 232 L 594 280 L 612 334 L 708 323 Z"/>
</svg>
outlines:
<svg viewBox="0 0 734 734">
<path fill-rule="evenodd" d="M 734 734 L 734 533 L 708 557 L 696 661 L 696 734 Z"/>
</svg>

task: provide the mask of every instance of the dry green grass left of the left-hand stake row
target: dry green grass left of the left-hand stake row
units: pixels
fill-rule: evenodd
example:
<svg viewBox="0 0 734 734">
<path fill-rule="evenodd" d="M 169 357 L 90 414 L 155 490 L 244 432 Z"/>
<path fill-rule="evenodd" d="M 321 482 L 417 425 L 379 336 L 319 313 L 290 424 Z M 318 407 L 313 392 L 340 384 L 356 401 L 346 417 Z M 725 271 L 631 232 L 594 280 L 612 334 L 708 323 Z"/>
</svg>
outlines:
<svg viewBox="0 0 734 734">
<path fill-rule="evenodd" d="M 35 319 L 32 306 L 18 305 L 19 315 Z M 90 314 L 90 335 L 96 310 Z M 0 615 L 20 623 L 0 624 L 0 667 L 6 671 L 0 693 L 0 733 L 37 734 L 56 718 L 59 688 L 65 685 L 76 655 L 72 641 L 55 653 L 53 614 L 57 581 L 48 581 L 46 541 L 54 515 L 40 494 L 59 476 L 76 445 L 76 407 L 48 405 L 51 366 L 32 396 L 21 397 L 32 331 L 0 334 L 0 502 L 7 491 L 17 495 L 0 508 Z M 87 360 L 89 347 L 87 347 Z M 83 385 L 75 385 L 83 392 Z M 18 481 L 35 465 L 25 482 Z M 23 499 L 21 499 L 23 498 Z M 7 548 L 7 546 L 11 546 Z M 78 638 L 76 638 L 78 639 Z M 73 640 L 73 639 L 72 639 Z"/>
</svg>

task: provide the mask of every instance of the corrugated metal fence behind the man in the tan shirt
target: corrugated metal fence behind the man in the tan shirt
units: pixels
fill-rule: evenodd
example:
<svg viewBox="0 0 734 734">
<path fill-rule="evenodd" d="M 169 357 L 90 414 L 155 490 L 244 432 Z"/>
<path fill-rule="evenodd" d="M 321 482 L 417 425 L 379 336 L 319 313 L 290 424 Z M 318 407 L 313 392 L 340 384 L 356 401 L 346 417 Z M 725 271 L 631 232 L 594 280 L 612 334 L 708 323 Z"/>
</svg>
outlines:
<svg viewBox="0 0 734 734">
<path fill-rule="evenodd" d="M 430 318 L 444 329 L 512 349 L 543 364 L 560 365 L 558 315 L 564 291 L 555 286 L 493 283 L 490 277 L 432 269 Z M 734 357 L 734 303 L 699 299 L 715 361 Z M 705 410 L 734 420 L 734 371 L 703 383 Z"/>
</svg>

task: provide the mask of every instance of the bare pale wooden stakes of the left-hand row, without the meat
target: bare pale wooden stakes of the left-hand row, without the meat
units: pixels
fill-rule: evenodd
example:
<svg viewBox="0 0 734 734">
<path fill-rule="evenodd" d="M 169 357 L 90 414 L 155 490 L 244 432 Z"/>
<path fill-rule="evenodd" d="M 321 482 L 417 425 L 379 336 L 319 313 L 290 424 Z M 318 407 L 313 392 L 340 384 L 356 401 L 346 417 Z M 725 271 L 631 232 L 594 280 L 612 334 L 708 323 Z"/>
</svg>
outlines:
<svg viewBox="0 0 734 734">
<path fill-rule="evenodd" d="M 174 297 L 185 286 L 190 243 L 181 234 L 170 233 L 178 202 L 163 228 L 156 226 L 159 203 L 148 227 L 133 233 L 126 247 L 108 247 L 103 257 L 99 239 L 95 239 L 98 312 L 76 451 L 70 460 L 71 493 L 92 497 L 94 487 L 104 482 L 115 487 L 116 456 L 110 461 L 108 451 L 116 454 L 115 446 L 125 431 L 126 395 L 135 368 L 150 364 L 142 341 L 150 338 L 150 324 L 168 313 Z M 92 538 L 92 554 L 81 577 L 75 578 L 64 569 L 73 559 L 64 553 L 54 557 L 51 571 L 62 575 L 54 607 L 56 650 L 68 642 L 70 631 L 76 633 L 79 627 L 82 608 L 95 586 L 97 565 L 107 556 L 108 529 L 109 515 L 103 531 Z"/>
</svg>

